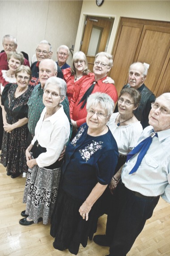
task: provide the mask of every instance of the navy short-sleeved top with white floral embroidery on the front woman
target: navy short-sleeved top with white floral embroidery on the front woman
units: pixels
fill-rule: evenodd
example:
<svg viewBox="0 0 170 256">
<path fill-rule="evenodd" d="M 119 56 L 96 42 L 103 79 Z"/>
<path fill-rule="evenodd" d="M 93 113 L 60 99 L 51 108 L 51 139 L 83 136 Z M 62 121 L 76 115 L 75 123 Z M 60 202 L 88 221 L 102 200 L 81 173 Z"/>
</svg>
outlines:
<svg viewBox="0 0 170 256">
<path fill-rule="evenodd" d="M 118 147 L 110 130 L 93 137 L 87 134 L 88 125 L 79 128 L 69 142 L 62 168 L 62 188 L 75 198 L 85 200 L 95 185 L 110 183 L 118 161 Z"/>
</svg>

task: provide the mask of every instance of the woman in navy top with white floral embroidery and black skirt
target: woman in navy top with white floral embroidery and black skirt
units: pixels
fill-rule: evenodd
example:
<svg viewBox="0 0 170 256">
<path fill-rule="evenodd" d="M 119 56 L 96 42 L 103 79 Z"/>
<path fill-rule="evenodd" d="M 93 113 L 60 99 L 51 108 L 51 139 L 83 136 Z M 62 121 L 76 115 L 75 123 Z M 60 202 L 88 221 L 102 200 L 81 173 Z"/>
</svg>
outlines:
<svg viewBox="0 0 170 256">
<path fill-rule="evenodd" d="M 116 141 L 106 126 L 113 113 L 109 95 L 95 93 L 87 100 L 87 123 L 66 148 L 63 179 L 51 219 L 53 246 L 77 254 L 97 229 L 99 197 L 114 174 Z"/>
</svg>

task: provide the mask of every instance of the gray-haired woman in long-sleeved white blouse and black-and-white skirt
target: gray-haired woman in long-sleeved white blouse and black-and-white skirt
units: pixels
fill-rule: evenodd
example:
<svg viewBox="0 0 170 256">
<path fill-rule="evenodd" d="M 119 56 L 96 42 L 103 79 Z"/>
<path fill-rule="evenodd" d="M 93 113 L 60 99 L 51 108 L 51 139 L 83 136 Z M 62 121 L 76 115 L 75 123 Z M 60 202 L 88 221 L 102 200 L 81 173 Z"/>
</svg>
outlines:
<svg viewBox="0 0 170 256">
<path fill-rule="evenodd" d="M 42 218 L 43 224 L 47 224 L 54 209 L 62 163 L 58 158 L 70 135 L 69 121 L 60 104 L 66 90 L 65 81 L 58 77 L 50 77 L 44 86 L 45 108 L 26 149 L 29 166 L 23 198 L 26 211 L 21 212 L 25 218 L 19 222 L 24 226 L 38 223 Z"/>
</svg>

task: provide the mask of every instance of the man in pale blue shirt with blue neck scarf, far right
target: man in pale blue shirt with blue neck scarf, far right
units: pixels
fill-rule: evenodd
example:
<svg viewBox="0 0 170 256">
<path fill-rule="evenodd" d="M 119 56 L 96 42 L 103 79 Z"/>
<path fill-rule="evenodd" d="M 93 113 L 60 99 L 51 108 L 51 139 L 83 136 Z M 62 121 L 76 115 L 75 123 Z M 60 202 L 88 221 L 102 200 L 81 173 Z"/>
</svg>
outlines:
<svg viewBox="0 0 170 256">
<path fill-rule="evenodd" d="M 170 203 L 170 93 L 159 96 L 151 106 L 150 126 L 123 166 L 122 181 L 115 189 L 107 217 L 106 235 L 93 239 L 110 246 L 109 256 L 127 255 L 160 195 Z"/>
</svg>

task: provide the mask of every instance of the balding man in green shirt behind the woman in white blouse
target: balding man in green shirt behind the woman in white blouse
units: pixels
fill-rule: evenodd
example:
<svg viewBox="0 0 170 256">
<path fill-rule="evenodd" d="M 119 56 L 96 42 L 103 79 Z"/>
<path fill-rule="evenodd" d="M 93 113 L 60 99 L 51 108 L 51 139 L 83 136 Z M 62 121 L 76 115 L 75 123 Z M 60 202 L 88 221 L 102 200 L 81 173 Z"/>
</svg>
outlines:
<svg viewBox="0 0 170 256">
<path fill-rule="evenodd" d="M 39 84 L 34 87 L 34 90 L 32 91 L 29 101 L 28 101 L 28 106 L 29 106 L 29 111 L 28 111 L 28 128 L 29 128 L 29 138 L 28 138 L 28 143 L 30 145 L 30 142 L 32 138 L 35 135 L 35 126 L 40 118 L 40 115 L 44 109 L 44 104 L 43 104 L 43 88 L 44 85 L 49 77 L 57 76 L 57 64 L 55 63 L 54 60 L 49 60 L 45 59 L 42 60 L 41 63 L 39 64 Z M 68 120 L 70 122 L 70 136 L 72 133 L 72 124 L 70 120 L 70 115 L 69 115 L 69 105 L 68 105 L 68 98 L 67 96 L 65 97 L 64 101 L 61 102 L 64 108 L 64 112 L 68 117 Z"/>
</svg>

